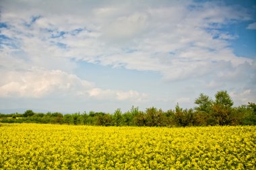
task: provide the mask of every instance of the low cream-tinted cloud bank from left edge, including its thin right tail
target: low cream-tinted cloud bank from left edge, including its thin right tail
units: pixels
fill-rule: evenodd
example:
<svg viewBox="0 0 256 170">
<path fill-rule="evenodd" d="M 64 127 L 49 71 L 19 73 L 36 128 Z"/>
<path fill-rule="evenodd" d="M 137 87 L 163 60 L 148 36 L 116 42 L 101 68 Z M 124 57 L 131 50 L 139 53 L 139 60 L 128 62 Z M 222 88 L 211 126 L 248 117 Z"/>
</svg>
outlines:
<svg viewBox="0 0 256 170">
<path fill-rule="evenodd" d="M 0 97 L 55 97 L 77 96 L 94 99 L 142 101 L 145 93 L 100 89 L 89 81 L 60 70 L 32 68 L 27 71 L 9 71 L 2 74 Z"/>
</svg>

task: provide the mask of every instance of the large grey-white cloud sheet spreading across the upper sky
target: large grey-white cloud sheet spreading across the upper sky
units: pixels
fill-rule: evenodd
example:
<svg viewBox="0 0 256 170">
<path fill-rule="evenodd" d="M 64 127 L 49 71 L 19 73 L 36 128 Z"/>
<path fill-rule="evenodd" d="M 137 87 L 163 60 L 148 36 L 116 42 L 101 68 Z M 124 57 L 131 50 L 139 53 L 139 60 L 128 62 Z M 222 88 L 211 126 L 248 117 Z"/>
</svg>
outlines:
<svg viewBox="0 0 256 170">
<path fill-rule="evenodd" d="M 189 9 L 186 5 L 195 7 Z M 234 12 L 232 7 L 216 3 L 186 5 L 167 4 L 166 7 L 135 8 L 127 12 L 131 8 L 129 3 L 119 8 L 115 5 L 98 7 L 96 4 L 95 8 L 86 12 L 88 16 L 84 18 L 76 15 L 77 13 L 57 15 L 58 10 L 51 11 L 53 15 L 49 15 L 46 11 L 53 9 L 42 7 L 45 12 L 40 11 L 42 17 L 36 20 L 30 29 L 15 24 L 4 34 L 18 38 L 20 48 L 29 56 L 33 56 L 31 59 L 34 64 L 40 67 L 48 65 L 49 69 L 63 70 L 68 68 L 68 64 L 62 63 L 57 68 L 51 66 L 51 63 L 61 63 L 65 60 L 63 58 L 77 58 L 102 65 L 121 65 L 127 69 L 158 71 L 164 79 L 177 80 L 211 72 L 197 70 L 203 65 L 211 65 L 212 61 L 226 60 L 234 65 L 245 61 L 251 62 L 248 58 L 237 58 L 228 48 L 226 40 L 236 36 L 219 34 L 219 38 L 214 39 L 212 34 L 214 28 L 225 22 L 247 19 L 247 13 Z M 29 22 L 28 14 L 20 17 Z M 11 18 L 12 23 L 20 21 L 8 15 L 4 15 L 3 18 Z M 77 36 L 68 34 L 77 28 L 86 28 L 90 31 L 83 30 Z M 211 28 L 212 32 L 207 32 L 205 28 Z M 20 32 L 19 35 L 16 35 L 17 30 Z M 65 34 L 51 38 L 52 34 L 58 32 Z M 61 48 L 58 43 L 66 48 Z M 124 50 L 127 48 L 134 49 L 135 52 L 127 53 Z M 174 54 L 168 54 L 170 51 Z M 159 54 L 164 58 L 158 57 Z"/>
</svg>

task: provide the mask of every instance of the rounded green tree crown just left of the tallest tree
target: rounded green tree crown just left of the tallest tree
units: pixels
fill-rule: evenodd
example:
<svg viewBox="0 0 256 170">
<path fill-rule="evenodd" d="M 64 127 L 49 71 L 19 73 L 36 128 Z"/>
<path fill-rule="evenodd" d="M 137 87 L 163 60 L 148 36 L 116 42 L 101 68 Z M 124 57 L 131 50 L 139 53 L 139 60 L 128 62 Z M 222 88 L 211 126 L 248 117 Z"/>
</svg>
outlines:
<svg viewBox="0 0 256 170">
<path fill-rule="evenodd" d="M 196 111 L 210 113 L 212 110 L 213 101 L 209 96 L 201 93 L 199 97 L 195 99 L 195 104 L 198 105 L 195 107 Z"/>
</svg>

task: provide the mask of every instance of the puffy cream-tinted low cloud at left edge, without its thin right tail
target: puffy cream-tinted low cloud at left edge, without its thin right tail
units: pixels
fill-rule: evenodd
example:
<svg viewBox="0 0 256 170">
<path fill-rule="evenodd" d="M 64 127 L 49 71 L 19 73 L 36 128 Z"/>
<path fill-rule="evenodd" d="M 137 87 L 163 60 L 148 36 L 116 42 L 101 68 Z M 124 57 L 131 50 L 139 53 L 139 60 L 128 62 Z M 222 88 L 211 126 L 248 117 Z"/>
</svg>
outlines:
<svg viewBox="0 0 256 170">
<path fill-rule="evenodd" d="M 1 97 L 65 96 L 93 87 L 92 83 L 60 70 L 32 68 L 28 71 L 9 71 L 2 75 L 7 82 L 1 83 Z"/>
</svg>

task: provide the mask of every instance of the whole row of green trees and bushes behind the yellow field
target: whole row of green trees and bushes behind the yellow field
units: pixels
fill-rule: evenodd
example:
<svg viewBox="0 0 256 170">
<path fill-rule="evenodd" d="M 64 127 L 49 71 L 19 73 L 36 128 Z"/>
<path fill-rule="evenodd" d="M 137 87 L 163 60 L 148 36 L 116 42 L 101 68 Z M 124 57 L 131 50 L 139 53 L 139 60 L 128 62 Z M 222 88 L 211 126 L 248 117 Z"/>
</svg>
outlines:
<svg viewBox="0 0 256 170">
<path fill-rule="evenodd" d="M 0 114 L 0 122 L 168 127 L 256 125 L 256 104 L 233 107 L 233 101 L 227 91 L 218 91 L 214 100 L 201 93 L 195 99 L 195 105 L 195 108 L 183 109 L 177 103 L 174 110 L 165 112 L 154 107 L 147 108 L 144 112 L 132 107 L 125 113 L 117 109 L 113 114 L 91 111 L 63 115 L 59 112 L 42 114 L 27 110 L 24 114 Z"/>
</svg>

